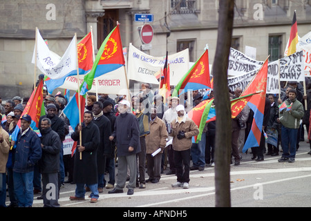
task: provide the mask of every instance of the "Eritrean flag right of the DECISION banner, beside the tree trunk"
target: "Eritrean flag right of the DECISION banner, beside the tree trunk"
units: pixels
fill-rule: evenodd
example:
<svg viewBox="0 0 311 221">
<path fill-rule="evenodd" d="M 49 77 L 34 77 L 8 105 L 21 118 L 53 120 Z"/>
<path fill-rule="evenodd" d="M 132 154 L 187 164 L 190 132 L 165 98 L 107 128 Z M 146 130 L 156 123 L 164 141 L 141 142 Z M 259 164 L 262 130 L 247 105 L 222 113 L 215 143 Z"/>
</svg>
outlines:
<svg viewBox="0 0 311 221">
<path fill-rule="evenodd" d="M 208 50 L 205 50 L 190 70 L 180 79 L 173 90 L 172 97 L 178 97 L 178 95 L 187 92 L 187 90 L 204 88 L 211 88 Z"/>
</svg>

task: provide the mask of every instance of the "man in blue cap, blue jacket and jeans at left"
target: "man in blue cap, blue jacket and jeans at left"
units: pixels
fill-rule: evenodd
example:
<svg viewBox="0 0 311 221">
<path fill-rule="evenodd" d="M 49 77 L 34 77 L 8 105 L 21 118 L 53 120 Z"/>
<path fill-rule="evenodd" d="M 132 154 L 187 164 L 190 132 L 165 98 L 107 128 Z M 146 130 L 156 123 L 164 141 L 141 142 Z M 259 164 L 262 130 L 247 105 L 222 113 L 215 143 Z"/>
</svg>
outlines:
<svg viewBox="0 0 311 221">
<path fill-rule="evenodd" d="M 19 207 L 32 206 L 34 166 L 42 154 L 40 138 L 35 131 L 31 130 L 30 124 L 30 115 L 22 115 L 21 133 L 17 136 L 13 166 L 15 195 Z"/>
</svg>

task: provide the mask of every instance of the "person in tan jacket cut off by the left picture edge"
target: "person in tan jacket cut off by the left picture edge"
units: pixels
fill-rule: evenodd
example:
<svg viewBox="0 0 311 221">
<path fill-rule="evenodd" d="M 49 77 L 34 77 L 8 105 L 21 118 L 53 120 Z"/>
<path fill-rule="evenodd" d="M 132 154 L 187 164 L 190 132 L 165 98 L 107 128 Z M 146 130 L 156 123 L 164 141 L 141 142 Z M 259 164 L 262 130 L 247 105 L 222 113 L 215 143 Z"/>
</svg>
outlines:
<svg viewBox="0 0 311 221">
<path fill-rule="evenodd" d="M 0 122 L 2 115 L 0 114 Z M 0 126 L 0 207 L 6 207 L 6 163 L 10 151 L 9 135 Z"/>
</svg>

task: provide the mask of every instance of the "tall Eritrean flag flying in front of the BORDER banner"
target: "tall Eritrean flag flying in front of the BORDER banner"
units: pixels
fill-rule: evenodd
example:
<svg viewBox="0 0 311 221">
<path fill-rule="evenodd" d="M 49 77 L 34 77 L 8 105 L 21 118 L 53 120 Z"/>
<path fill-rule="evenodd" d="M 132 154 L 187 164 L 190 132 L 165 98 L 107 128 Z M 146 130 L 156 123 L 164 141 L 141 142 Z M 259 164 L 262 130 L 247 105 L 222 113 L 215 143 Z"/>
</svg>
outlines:
<svg viewBox="0 0 311 221">
<path fill-rule="evenodd" d="M 100 46 L 92 70 L 84 76 L 84 81 L 80 86 L 80 94 L 85 95 L 88 90 L 91 90 L 95 77 L 116 70 L 124 66 L 124 64 L 120 28 L 119 25 L 117 25 L 103 41 L 102 46 Z"/>
</svg>

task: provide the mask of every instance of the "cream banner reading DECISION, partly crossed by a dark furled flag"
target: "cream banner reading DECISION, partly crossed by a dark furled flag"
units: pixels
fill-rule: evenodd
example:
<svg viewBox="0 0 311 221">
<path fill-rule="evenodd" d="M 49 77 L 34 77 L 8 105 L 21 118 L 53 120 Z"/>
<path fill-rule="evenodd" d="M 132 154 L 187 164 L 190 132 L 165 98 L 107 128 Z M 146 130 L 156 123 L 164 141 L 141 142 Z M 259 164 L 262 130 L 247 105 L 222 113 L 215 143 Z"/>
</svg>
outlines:
<svg viewBox="0 0 311 221">
<path fill-rule="evenodd" d="M 156 75 L 164 67 L 165 56 L 153 57 L 129 45 L 129 79 L 149 84 L 159 84 Z M 170 84 L 176 86 L 189 70 L 189 49 L 169 55 Z"/>
</svg>

